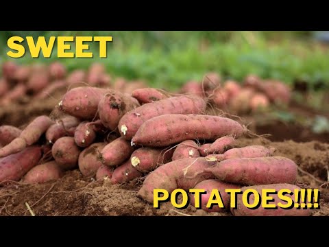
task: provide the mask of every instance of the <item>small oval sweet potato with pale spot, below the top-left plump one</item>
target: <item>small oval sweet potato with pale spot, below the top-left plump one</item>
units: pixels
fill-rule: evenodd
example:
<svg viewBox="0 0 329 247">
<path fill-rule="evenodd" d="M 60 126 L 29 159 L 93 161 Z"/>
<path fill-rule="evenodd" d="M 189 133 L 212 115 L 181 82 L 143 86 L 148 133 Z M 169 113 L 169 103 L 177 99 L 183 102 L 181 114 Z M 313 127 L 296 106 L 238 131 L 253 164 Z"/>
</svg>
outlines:
<svg viewBox="0 0 329 247">
<path fill-rule="evenodd" d="M 96 132 L 90 122 L 82 121 L 74 132 L 74 141 L 79 147 L 88 147 L 96 139 Z"/>
</svg>

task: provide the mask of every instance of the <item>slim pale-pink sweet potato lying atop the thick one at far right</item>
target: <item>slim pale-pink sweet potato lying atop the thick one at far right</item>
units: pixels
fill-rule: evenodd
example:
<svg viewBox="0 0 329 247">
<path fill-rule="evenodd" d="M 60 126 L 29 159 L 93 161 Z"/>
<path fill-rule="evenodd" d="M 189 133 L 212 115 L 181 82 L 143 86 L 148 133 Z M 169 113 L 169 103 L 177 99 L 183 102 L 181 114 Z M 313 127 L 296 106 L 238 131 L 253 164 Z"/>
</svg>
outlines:
<svg viewBox="0 0 329 247">
<path fill-rule="evenodd" d="M 272 156 L 276 148 L 265 148 L 262 145 L 250 145 L 243 148 L 232 148 L 223 154 L 206 156 L 209 161 L 223 161 L 229 158 L 261 158 Z"/>
</svg>

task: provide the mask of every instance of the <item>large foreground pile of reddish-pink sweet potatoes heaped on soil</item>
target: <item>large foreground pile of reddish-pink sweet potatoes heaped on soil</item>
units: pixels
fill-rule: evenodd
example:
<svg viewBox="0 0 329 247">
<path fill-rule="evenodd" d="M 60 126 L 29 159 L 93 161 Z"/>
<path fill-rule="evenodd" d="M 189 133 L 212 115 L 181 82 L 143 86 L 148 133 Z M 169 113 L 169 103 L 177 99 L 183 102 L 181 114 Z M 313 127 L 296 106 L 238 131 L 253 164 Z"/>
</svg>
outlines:
<svg viewBox="0 0 329 247">
<path fill-rule="evenodd" d="M 97 68 L 100 75 L 106 75 Z M 3 71 L 6 78 L 8 73 Z M 295 187 L 297 165 L 273 156 L 273 148 L 236 146 L 236 139 L 246 134 L 247 128 L 230 118 L 206 115 L 206 108 L 221 89 L 219 76 L 210 75 L 204 83 L 207 94 L 191 93 L 186 86 L 184 93 L 175 95 L 143 88 L 143 83 L 130 88 L 124 80 L 119 80 L 122 87 L 118 81 L 114 86 L 100 87 L 99 78 L 90 75 L 88 82 L 97 85 L 67 91 L 55 107 L 61 113 L 56 119 L 36 117 L 22 129 L 0 126 L 0 184 L 8 180 L 46 183 L 67 170 L 80 169 L 84 176 L 106 178 L 112 184 L 145 178 L 137 196 L 150 203 L 154 189 L 169 193 L 178 188 L 218 189 L 226 209 L 202 209 L 231 210 L 234 215 L 269 214 L 242 206 L 230 209 L 225 189 Z M 202 196 L 203 206 L 209 196 Z M 191 195 L 192 204 L 194 200 Z M 237 200 L 241 204 L 241 198 Z M 270 212 L 308 215 L 310 211 Z"/>
</svg>

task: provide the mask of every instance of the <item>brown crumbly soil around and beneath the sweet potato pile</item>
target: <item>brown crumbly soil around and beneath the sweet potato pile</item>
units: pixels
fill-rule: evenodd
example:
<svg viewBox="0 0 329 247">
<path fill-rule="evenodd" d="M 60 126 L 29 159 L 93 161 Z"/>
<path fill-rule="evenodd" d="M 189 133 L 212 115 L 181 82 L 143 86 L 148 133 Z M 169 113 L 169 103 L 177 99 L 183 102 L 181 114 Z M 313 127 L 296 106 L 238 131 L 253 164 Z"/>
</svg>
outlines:
<svg viewBox="0 0 329 247">
<path fill-rule="evenodd" d="M 11 105 L 0 108 L 0 125 L 24 126 L 38 115 L 49 115 L 58 104 L 58 97 Z M 265 145 L 276 148 L 276 156 L 291 158 L 300 167 L 297 184 L 301 187 L 320 187 L 320 209 L 313 215 L 329 215 L 329 134 L 314 134 L 295 124 L 272 122 L 251 129 L 256 134 L 270 137 L 242 138 L 237 145 Z M 123 185 L 111 185 L 109 180 L 95 181 L 84 177 L 79 169 L 68 171 L 60 180 L 42 185 L 26 185 L 12 182 L 0 187 L 0 215 L 225 215 L 230 213 L 206 213 L 193 206 L 175 209 L 170 202 L 154 209 L 136 197 L 143 179 L 135 179 Z M 27 205 L 31 211 L 27 209 Z"/>
</svg>

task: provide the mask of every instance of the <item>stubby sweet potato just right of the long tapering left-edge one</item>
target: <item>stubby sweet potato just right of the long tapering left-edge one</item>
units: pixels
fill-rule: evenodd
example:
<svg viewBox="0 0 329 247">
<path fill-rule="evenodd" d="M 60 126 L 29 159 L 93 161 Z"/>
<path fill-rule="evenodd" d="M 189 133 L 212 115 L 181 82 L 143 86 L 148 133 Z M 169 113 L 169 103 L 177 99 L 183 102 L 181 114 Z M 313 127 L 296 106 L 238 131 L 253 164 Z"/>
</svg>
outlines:
<svg viewBox="0 0 329 247">
<path fill-rule="evenodd" d="M 46 139 L 49 143 L 55 143 L 60 137 L 73 137 L 79 124 L 80 120 L 70 115 L 57 119 L 56 124 L 52 124 L 46 131 Z"/>
</svg>

